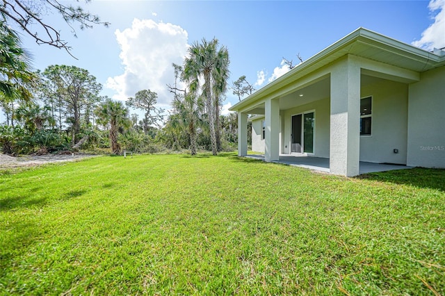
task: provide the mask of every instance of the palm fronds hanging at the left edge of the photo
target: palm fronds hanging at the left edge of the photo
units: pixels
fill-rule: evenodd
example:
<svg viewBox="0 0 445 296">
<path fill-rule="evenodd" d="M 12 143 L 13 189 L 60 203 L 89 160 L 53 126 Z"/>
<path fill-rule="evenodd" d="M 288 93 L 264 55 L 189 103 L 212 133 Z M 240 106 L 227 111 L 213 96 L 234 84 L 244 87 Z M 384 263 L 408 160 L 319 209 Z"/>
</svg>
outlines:
<svg viewBox="0 0 445 296">
<path fill-rule="evenodd" d="M 0 22 L 0 99 L 29 101 L 30 88 L 37 81 L 30 55 L 22 49 L 18 35 L 6 22 Z"/>
</svg>

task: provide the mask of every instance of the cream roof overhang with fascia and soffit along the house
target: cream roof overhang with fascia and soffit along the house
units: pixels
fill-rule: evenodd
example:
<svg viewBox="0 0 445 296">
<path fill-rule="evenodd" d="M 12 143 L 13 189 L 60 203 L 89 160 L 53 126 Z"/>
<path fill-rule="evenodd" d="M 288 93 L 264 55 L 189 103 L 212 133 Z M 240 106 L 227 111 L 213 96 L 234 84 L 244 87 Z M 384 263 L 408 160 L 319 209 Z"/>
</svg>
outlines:
<svg viewBox="0 0 445 296">
<path fill-rule="evenodd" d="M 229 110 L 242 110 L 255 101 L 264 99 L 273 92 L 280 90 L 280 88 L 284 88 L 286 85 L 290 85 L 348 54 L 420 73 L 444 66 L 445 56 L 441 55 L 442 53 L 442 51 L 425 51 L 369 31 L 366 28 L 357 28 L 357 30 L 305 60 L 305 62 L 264 86 L 264 88 L 238 102 Z"/>
</svg>

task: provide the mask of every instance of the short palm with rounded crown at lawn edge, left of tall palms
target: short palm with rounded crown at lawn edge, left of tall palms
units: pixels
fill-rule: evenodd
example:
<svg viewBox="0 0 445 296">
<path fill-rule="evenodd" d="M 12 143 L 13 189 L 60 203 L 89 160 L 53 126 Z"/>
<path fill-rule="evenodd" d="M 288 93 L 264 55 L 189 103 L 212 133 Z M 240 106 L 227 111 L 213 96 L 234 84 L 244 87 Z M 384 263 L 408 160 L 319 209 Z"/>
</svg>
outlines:
<svg viewBox="0 0 445 296">
<path fill-rule="evenodd" d="M 110 126 L 110 143 L 113 154 L 120 154 L 120 144 L 118 142 L 118 132 L 120 129 L 129 128 L 131 120 L 128 117 L 128 109 L 120 101 L 107 99 L 96 110 L 98 121 L 101 124 Z"/>
</svg>

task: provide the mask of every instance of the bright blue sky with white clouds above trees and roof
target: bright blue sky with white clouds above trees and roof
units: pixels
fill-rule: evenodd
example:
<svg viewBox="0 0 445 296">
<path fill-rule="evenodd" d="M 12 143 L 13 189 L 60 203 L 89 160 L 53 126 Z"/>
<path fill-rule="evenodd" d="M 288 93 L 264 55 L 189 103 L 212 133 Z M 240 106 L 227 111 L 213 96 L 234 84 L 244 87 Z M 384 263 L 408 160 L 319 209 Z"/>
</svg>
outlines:
<svg viewBox="0 0 445 296">
<path fill-rule="evenodd" d="M 124 100 L 150 89 L 167 108 L 172 97 L 165 84 L 174 80 L 171 64 L 181 63 L 187 44 L 202 38 L 218 38 L 229 50 L 230 84 L 245 75 L 257 89 L 286 72 L 283 57 L 296 63 L 300 54 L 306 60 L 360 26 L 408 44 L 417 41 L 416 46 L 426 49 L 445 47 L 445 0 L 79 3 L 111 26 L 79 29 L 73 38 L 59 15 L 45 15 L 78 60 L 23 35 L 34 67 L 82 67 L 104 85 L 103 95 Z M 232 91 L 227 92 L 226 108 L 237 101 Z"/>
</svg>

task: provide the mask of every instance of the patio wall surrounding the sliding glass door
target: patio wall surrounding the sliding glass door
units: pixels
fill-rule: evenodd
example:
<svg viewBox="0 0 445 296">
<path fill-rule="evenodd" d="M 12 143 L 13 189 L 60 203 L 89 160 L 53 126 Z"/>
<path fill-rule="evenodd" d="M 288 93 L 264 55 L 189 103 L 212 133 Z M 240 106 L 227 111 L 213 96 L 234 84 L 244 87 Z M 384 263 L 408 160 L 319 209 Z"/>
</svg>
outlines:
<svg viewBox="0 0 445 296">
<path fill-rule="evenodd" d="M 297 94 L 296 94 L 297 95 Z M 283 112 L 284 132 L 282 133 L 282 153 L 290 154 L 291 145 L 291 117 L 315 111 L 314 156 L 329 158 L 329 133 L 330 133 L 330 99 L 321 99 L 309 104 L 291 108 Z"/>
</svg>

